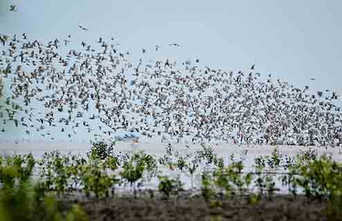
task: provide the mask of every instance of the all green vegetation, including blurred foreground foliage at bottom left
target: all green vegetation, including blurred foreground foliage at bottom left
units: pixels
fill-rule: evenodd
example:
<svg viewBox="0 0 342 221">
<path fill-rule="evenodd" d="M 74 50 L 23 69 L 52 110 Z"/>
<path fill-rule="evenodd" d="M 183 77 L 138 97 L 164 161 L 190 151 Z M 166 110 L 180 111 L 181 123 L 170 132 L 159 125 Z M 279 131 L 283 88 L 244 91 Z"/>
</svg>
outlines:
<svg viewBox="0 0 342 221">
<path fill-rule="evenodd" d="M 123 202 L 129 196 L 143 204 L 203 200 L 217 211 L 236 201 L 258 208 L 265 200 L 286 198 L 293 204 L 318 200 L 325 218 L 341 220 L 341 163 L 328 155 L 318 156 L 312 149 L 291 157 L 275 148 L 271 155 L 256 157 L 253 169 L 246 170 L 246 154 L 219 157 L 203 145 L 195 153 L 182 155 L 169 145 L 166 154 L 157 158 L 143 151 L 116 153 L 114 144 L 97 142 L 87 156 L 58 151 L 45 153 L 41 159 L 30 154 L 2 155 L 0 221 L 87 220 L 95 213 L 89 208 L 96 207 L 89 207 L 89 202 Z M 168 170 L 190 177 L 191 188 L 184 188 L 180 177 L 170 176 Z M 158 183 L 156 189 L 146 189 L 144 185 L 153 180 Z M 199 182 L 194 184 L 195 180 Z M 279 195 L 280 189 L 287 194 Z M 219 217 L 219 212 L 210 215 Z"/>
</svg>

